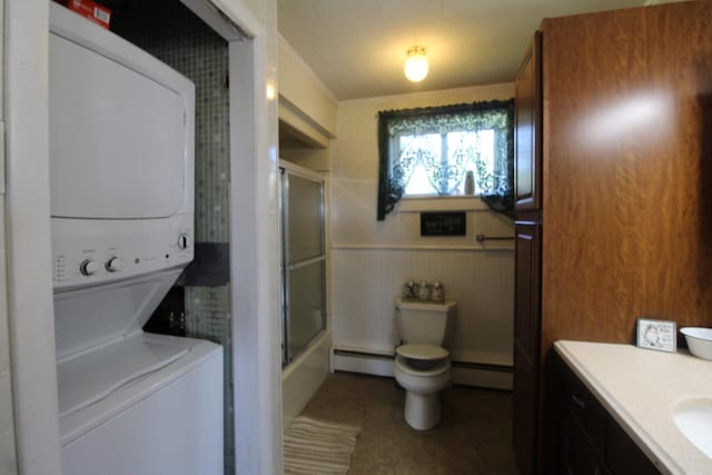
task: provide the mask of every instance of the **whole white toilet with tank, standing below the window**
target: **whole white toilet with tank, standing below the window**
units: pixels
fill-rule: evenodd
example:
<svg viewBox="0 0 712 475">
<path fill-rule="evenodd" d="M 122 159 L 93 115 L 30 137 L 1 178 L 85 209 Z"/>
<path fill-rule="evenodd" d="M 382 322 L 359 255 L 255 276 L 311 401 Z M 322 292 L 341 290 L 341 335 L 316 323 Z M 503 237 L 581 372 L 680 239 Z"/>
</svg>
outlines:
<svg viewBox="0 0 712 475">
<path fill-rule="evenodd" d="M 393 372 L 406 390 L 405 419 L 427 431 L 441 419 L 439 393 L 449 384 L 449 345 L 455 328 L 454 301 L 435 304 L 398 298 L 396 321 L 403 345 L 396 348 Z"/>
</svg>

